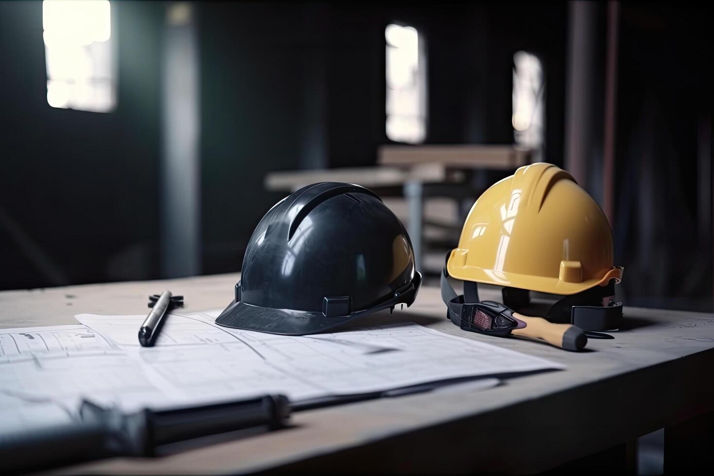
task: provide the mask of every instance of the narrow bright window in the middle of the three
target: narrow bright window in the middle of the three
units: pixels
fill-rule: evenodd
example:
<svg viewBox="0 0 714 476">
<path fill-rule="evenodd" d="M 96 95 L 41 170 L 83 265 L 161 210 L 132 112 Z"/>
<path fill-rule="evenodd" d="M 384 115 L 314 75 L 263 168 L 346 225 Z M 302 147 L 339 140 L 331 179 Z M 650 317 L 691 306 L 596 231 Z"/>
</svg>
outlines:
<svg viewBox="0 0 714 476">
<path fill-rule="evenodd" d="M 426 138 L 426 61 L 423 42 L 411 26 L 391 24 L 387 46 L 387 137 L 421 143 Z"/>
</svg>

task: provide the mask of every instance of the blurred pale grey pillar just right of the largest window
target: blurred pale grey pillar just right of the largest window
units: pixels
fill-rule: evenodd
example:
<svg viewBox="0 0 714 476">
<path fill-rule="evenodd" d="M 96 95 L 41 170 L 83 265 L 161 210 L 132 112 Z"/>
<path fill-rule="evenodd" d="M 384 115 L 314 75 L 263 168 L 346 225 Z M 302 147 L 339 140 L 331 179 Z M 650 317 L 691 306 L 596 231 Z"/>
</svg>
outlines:
<svg viewBox="0 0 714 476">
<path fill-rule="evenodd" d="M 161 76 L 161 275 L 201 273 L 199 61 L 193 4 L 166 4 Z"/>
</svg>

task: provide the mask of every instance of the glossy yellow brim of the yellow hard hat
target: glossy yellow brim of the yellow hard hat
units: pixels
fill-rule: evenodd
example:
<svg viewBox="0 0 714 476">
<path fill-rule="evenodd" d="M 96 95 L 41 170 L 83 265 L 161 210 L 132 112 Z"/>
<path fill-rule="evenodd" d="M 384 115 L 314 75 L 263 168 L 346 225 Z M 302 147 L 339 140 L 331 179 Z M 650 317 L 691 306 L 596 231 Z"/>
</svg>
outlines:
<svg viewBox="0 0 714 476">
<path fill-rule="evenodd" d="M 475 281 L 476 283 L 560 295 L 581 293 L 586 289 L 593 288 L 593 286 L 606 285 L 612 279 L 618 283 L 622 279 L 622 268 L 617 266 L 608 270 L 601 278 L 585 280 L 580 283 L 568 283 L 558 278 L 508 273 L 506 271 L 477 268 L 476 266 L 456 266 L 451 263 L 451 260 L 448 261 L 446 268 L 450 276 L 464 281 Z"/>
</svg>

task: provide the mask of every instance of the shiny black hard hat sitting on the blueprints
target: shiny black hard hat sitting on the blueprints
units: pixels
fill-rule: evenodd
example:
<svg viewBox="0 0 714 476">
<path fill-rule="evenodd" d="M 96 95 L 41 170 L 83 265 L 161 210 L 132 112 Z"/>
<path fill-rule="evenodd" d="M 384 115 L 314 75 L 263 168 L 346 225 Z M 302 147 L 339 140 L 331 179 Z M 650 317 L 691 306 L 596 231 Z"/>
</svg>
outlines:
<svg viewBox="0 0 714 476">
<path fill-rule="evenodd" d="M 411 240 L 375 193 L 350 183 L 314 183 L 283 198 L 258 223 L 236 299 L 216 324 L 314 334 L 411 305 L 420 284 Z"/>
</svg>

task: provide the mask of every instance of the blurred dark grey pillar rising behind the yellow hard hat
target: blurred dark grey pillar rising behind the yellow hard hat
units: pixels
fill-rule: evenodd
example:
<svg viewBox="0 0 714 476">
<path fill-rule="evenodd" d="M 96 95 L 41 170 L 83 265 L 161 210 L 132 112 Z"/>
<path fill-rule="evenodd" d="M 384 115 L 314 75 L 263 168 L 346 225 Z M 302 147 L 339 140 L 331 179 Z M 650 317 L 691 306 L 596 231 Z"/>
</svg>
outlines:
<svg viewBox="0 0 714 476">
<path fill-rule="evenodd" d="M 593 91 L 598 4 L 568 4 L 568 56 L 566 67 L 565 169 L 588 189 L 588 159 L 593 155 Z M 589 191 L 589 190 L 588 190 Z M 590 191 L 592 193 L 592 191 Z"/>
</svg>

